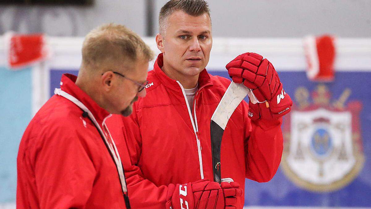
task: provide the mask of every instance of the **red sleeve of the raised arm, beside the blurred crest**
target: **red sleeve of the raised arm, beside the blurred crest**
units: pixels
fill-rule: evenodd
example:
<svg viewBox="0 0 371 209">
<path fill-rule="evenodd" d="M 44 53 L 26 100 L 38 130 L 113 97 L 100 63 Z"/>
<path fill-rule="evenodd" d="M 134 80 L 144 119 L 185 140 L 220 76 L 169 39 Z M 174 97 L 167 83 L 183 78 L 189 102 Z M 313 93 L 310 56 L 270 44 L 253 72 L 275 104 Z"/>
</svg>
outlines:
<svg viewBox="0 0 371 209">
<path fill-rule="evenodd" d="M 246 178 L 267 182 L 276 174 L 283 151 L 282 119 L 250 120 L 247 103 L 243 103 Z"/>
</svg>

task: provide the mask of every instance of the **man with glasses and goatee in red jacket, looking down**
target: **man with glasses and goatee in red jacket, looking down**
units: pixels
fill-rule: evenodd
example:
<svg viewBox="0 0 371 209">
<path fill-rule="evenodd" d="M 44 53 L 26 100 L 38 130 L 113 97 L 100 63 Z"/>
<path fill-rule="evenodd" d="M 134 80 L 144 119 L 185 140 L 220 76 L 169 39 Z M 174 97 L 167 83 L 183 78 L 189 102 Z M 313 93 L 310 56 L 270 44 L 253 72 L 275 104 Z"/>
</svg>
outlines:
<svg viewBox="0 0 371 209">
<path fill-rule="evenodd" d="M 105 121 L 144 97 L 150 48 L 122 25 L 92 30 L 79 76 L 31 120 L 17 157 L 17 208 L 130 208 L 120 157 Z M 124 153 L 125 154 L 125 153 Z"/>
</svg>

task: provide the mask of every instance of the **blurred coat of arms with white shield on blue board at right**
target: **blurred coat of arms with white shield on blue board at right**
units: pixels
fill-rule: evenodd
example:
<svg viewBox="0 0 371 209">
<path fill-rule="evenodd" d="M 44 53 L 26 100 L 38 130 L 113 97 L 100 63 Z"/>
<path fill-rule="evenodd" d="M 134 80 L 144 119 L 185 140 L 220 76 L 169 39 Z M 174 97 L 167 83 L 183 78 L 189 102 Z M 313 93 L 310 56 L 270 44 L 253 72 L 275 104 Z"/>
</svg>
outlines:
<svg viewBox="0 0 371 209">
<path fill-rule="evenodd" d="M 296 185 L 317 192 L 340 189 L 350 183 L 364 163 L 358 101 L 346 103 L 345 89 L 331 101 L 321 84 L 312 93 L 299 87 L 295 106 L 284 121 L 284 150 L 281 167 Z M 345 105 L 346 104 L 346 105 Z"/>
</svg>

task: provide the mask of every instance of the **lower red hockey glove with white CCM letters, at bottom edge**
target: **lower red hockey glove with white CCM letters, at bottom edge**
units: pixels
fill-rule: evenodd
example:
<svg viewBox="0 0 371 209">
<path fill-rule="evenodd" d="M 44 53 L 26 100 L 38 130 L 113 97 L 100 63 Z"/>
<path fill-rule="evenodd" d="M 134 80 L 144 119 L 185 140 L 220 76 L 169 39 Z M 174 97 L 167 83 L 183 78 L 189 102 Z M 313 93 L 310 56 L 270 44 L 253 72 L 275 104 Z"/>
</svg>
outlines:
<svg viewBox="0 0 371 209">
<path fill-rule="evenodd" d="M 188 184 L 170 184 L 167 192 L 167 209 L 233 209 L 236 197 L 242 190 L 237 182 L 221 184 L 200 180 Z"/>
</svg>

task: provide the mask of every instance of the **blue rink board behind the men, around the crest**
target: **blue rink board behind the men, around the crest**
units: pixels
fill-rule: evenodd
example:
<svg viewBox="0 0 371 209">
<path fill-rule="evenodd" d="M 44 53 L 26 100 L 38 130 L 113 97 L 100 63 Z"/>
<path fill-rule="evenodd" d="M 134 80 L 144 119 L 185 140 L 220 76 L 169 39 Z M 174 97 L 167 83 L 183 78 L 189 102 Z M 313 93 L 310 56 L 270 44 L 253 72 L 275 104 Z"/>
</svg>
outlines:
<svg viewBox="0 0 371 209">
<path fill-rule="evenodd" d="M 54 88 L 59 88 L 63 73 L 77 75 L 77 70 L 54 69 L 50 71 L 50 96 Z M 209 70 L 213 75 L 228 77 L 226 71 Z M 309 81 L 305 71 L 279 72 L 285 91 L 295 101 L 295 91 L 299 87 L 313 92 L 317 82 Z M 360 129 L 365 162 L 358 176 L 353 181 L 332 192 L 312 192 L 296 186 L 283 172 L 282 167 L 268 183 L 256 183 L 246 180 L 245 206 L 326 206 L 326 207 L 371 207 L 371 72 L 337 72 L 335 81 L 324 83 L 331 95 L 331 100 L 338 99 L 345 89 L 351 90 L 347 102 L 362 103 Z M 310 97 L 309 97 L 310 98 Z M 313 102 L 313 101 L 309 101 Z M 285 124 L 284 124 L 285 125 Z"/>
</svg>

